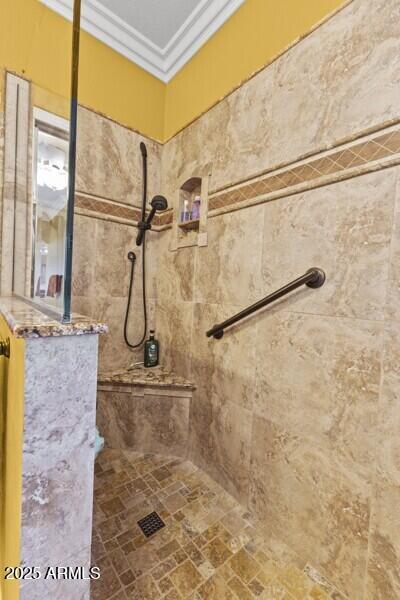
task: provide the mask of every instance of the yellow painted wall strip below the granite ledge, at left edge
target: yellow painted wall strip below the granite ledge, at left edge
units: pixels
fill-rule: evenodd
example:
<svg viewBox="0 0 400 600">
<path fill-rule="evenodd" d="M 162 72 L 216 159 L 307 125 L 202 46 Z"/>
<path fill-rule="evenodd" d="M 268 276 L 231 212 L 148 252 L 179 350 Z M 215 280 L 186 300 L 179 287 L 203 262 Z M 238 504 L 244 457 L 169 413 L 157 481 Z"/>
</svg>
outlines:
<svg viewBox="0 0 400 600">
<path fill-rule="evenodd" d="M 1 598 L 18 600 L 18 582 L 4 581 L 3 575 L 5 566 L 18 566 L 20 562 L 25 342 L 11 335 L 2 317 L 0 317 L 0 337 L 11 339 L 10 359 L 0 357 Z"/>
</svg>

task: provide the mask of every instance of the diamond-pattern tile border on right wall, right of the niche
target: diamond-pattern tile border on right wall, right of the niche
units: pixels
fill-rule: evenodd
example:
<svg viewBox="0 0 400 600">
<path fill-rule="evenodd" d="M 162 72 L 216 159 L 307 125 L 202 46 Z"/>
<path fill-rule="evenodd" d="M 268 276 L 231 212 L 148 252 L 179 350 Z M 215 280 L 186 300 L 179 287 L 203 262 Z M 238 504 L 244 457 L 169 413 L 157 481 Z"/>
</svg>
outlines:
<svg viewBox="0 0 400 600">
<path fill-rule="evenodd" d="M 398 125 L 219 190 L 210 195 L 209 216 L 289 196 L 395 164 L 400 164 Z"/>
</svg>

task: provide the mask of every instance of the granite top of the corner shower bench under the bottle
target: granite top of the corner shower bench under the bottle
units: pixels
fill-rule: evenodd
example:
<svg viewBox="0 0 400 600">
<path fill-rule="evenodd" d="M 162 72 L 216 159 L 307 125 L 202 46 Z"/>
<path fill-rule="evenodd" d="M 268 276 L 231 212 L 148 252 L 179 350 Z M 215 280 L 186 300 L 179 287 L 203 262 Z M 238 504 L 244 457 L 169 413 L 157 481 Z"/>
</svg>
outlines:
<svg viewBox="0 0 400 600">
<path fill-rule="evenodd" d="M 195 389 L 195 385 L 164 367 L 145 368 L 144 366 L 136 366 L 132 369 L 121 369 L 109 373 L 99 373 L 97 382 L 101 384 L 140 386 L 140 387 L 173 387 L 176 389 Z"/>
</svg>

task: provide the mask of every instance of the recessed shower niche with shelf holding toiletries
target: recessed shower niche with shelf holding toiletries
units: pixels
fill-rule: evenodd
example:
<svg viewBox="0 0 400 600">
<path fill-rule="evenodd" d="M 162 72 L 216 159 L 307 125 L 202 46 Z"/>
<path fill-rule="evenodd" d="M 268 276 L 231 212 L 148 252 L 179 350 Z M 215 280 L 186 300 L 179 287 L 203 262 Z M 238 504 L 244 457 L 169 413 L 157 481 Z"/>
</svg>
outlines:
<svg viewBox="0 0 400 600">
<path fill-rule="evenodd" d="M 208 180 L 190 177 L 179 187 L 174 219 L 175 248 L 207 245 Z"/>
</svg>

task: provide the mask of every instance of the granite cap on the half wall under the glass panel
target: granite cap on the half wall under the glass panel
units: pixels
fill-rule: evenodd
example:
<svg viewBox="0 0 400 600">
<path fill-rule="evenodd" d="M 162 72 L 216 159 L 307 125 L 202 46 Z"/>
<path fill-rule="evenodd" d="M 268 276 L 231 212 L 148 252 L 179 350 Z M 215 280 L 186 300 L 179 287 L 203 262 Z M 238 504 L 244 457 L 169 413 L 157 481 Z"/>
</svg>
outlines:
<svg viewBox="0 0 400 600">
<path fill-rule="evenodd" d="M 71 323 L 62 323 L 17 296 L 0 298 L 0 314 L 17 338 L 60 337 L 108 331 L 104 323 L 77 314 L 72 315 Z"/>
</svg>

